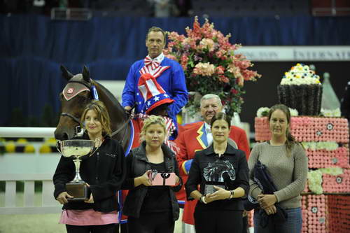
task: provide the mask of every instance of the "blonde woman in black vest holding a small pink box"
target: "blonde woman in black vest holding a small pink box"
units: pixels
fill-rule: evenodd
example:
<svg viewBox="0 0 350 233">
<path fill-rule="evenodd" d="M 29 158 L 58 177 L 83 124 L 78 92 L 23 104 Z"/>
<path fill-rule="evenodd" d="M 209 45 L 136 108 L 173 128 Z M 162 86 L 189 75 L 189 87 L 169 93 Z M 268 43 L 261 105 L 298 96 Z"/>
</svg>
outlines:
<svg viewBox="0 0 350 233">
<path fill-rule="evenodd" d="M 151 115 L 141 129 L 141 146 L 127 156 L 127 178 L 123 189 L 130 190 L 123 213 L 128 216 L 129 232 L 174 232 L 179 204 L 174 192 L 181 189 L 179 167 L 172 150 L 165 145 L 165 120 Z M 175 173 L 176 186 L 152 185 L 151 171 Z"/>
</svg>

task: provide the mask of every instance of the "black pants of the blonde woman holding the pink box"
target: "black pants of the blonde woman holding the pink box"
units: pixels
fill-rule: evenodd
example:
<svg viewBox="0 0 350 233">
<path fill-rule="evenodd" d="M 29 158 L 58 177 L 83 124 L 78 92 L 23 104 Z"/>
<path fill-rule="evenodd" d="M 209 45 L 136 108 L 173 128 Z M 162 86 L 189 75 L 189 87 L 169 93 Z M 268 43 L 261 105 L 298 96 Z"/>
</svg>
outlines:
<svg viewBox="0 0 350 233">
<path fill-rule="evenodd" d="M 175 222 L 171 211 L 141 213 L 140 218 L 129 216 L 127 228 L 131 233 L 173 233 Z"/>
</svg>

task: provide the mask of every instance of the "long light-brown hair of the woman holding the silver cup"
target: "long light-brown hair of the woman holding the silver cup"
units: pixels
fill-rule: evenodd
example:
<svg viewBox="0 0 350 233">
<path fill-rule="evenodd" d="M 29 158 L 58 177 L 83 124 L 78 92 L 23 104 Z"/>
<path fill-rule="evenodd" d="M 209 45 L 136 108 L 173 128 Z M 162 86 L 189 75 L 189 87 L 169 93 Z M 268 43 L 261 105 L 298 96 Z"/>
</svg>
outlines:
<svg viewBox="0 0 350 233">
<path fill-rule="evenodd" d="M 85 123 L 86 113 L 90 110 L 93 110 L 97 114 L 97 118 L 99 119 L 99 122 L 101 122 L 102 135 L 111 136 L 112 129 L 111 120 L 109 118 L 109 112 L 107 111 L 107 108 L 104 105 L 104 103 L 99 100 L 92 100 L 89 104 L 87 104 L 80 118 L 81 127 L 84 127 L 83 124 Z"/>
</svg>

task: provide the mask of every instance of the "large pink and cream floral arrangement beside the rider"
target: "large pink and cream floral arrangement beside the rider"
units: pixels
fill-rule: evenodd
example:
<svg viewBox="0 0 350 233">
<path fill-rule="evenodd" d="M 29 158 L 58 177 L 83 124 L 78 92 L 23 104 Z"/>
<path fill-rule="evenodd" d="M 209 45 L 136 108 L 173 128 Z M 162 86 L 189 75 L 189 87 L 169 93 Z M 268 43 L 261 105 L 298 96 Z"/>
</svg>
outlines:
<svg viewBox="0 0 350 233">
<path fill-rule="evenodd" d="M 253 64 L 244 55 L 235 54 L 241 45 L 232 45 L 231 35 L 224 36 L 207 19 L 201 27 L 198 17 L 193 29 L 186 27 L 187 36 L 176 31 L 167 33 L 169 43 L 164 54 L 183 67 L 188 91 L 218 94 L 228 115 L 240 113 L 244 81 L 260 78 L 256 71 L 248 70 Z M 197 109 L 199 104 L 190 96 L 188 107 Z"/>
</svg>

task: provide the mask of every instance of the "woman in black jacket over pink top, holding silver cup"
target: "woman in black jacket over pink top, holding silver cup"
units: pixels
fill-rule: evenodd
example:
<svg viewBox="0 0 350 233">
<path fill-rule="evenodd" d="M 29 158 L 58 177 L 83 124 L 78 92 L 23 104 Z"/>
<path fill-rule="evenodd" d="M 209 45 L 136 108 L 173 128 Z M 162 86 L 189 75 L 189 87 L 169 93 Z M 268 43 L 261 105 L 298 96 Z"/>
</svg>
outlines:
<svg viewBox="0 0 350 233">
<path fill-rule="evenodd" d="M 117 192 L 125 180 L 125 155 L 111 139 L 109 113 L 93 100 L 80 118 L 83 136 L 62 141 L 53 183 L 63 204 L 59 223 L 67 232 L 113 232 L 120 210 Z M 73 159 L 73 160 L 72 160 Z"/>
</svg>

